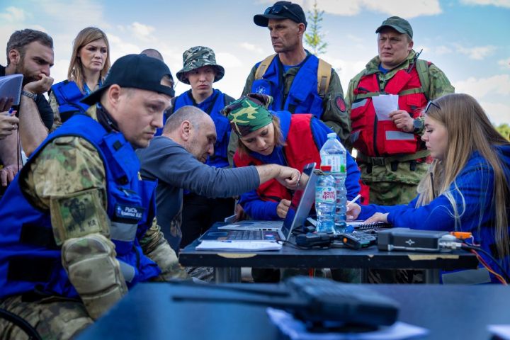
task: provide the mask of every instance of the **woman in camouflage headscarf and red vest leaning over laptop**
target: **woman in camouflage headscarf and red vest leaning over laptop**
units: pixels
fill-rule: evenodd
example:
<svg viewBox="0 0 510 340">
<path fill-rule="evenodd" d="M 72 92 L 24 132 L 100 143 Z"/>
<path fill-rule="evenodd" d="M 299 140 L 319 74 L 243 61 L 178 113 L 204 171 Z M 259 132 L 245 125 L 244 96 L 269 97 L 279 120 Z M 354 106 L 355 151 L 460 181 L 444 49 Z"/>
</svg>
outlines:
<svg viewBox="0 0 510 340">
<path fill-rule="evenodd" d="M 332 132 L 312 114 L 268 111 L 273 98 L 248 94 L 225 108 L 232 131 L 239 136 L 234 154 L 235 166 L 280 164 L 302 170 L 305 164 L 320 164 L 319 150 Z M 347 198 L 360 191 L 360 172 L 350 154 L 347 155 Z M 256 191 L 244 193 L 239 203 L 254 220 L 285 218 L 291 193 L 277 181 L 263 183 Z"/>
</svg>

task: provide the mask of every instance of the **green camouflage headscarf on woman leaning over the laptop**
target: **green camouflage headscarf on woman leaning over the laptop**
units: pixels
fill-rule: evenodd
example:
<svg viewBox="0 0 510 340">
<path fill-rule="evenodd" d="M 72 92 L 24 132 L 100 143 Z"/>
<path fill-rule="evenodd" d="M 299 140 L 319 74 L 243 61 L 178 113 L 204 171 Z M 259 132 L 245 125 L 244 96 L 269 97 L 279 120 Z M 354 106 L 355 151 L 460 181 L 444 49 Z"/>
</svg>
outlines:
<svg viewBox="0 0 510 340">
<path fill-rule="evenodd" d="M 273 97 L 265 94 L 247 94 L 223 110 L 232 130 L 239 137 L 244 137 L 273 122 L 273 115 L 268 110 L 272 101 Z"/>
</svg>

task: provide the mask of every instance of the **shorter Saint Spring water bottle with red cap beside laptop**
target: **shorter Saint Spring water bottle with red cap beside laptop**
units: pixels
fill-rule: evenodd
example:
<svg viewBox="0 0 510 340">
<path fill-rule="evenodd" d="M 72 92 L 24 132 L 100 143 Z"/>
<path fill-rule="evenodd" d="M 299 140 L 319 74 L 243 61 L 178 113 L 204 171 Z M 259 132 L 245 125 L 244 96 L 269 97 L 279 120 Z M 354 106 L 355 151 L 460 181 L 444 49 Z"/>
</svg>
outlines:
<svg viewBox="0 0 510 340">
<path fill-rule="evenodd" d="M 315 211 L 317 212 L 317 232 L 334 233 L 334 213 L 336 188 L 331 166 L 321 165 L 315 185 Z"/>
</svg>

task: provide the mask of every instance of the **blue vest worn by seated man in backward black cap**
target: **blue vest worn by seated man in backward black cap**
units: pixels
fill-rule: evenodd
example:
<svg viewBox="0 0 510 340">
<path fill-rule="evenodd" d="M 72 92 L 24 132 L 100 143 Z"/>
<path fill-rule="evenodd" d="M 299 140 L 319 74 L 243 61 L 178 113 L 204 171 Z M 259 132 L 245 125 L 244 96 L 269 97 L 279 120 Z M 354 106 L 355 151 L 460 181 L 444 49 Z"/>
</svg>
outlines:
<svg viewBox="0 0 510 340">
<path fill-rule="evenodd" d="M 40 150 L 62 136 L 84 138 L 96 147 L 103 160 L 111 240 L 128 287 L 160 273 L 157 264 L 142 253 L 138 242 L 152 225 L 157 183 L 138 179 L 140 163 L 120 132 L 108 133 L 89 116 L 74 115 L 35 150 L 0 201 L 0 298 L 33 290 L 78 297 L 62 267 L 50 212 L 32 205 L 19 185 L 19 179 L 28 175 Z"/>
</svg>

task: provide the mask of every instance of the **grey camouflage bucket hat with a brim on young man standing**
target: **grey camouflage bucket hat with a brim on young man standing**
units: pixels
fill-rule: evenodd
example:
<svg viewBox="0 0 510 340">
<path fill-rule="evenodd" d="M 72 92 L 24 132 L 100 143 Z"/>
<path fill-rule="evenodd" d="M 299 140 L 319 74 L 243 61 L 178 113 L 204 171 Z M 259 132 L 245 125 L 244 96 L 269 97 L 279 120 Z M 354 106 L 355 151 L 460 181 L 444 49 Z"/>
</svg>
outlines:
<svg viewBox="0 0 510 340">
<path fill-rule="evenodd" d="M 186 75 L 186 72 L 193 71 L 193 69 L 198 69 L 203 66 L 210 66 L 215 69 L 215 82 L 222 79 L 225 76 L 225 69 L 216 64 L 216 56 L 214 52 L 209 47 L 203 46 L 195 46 L 191 47 L 189 50 L 184 51 L 183 53 L 183 69 L 177 72 L 177 79 L 183 82 L 184 84 L 189 85 L 189 81 Z"/>
</svg>

